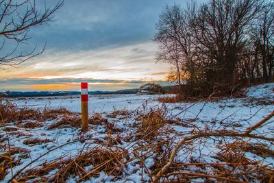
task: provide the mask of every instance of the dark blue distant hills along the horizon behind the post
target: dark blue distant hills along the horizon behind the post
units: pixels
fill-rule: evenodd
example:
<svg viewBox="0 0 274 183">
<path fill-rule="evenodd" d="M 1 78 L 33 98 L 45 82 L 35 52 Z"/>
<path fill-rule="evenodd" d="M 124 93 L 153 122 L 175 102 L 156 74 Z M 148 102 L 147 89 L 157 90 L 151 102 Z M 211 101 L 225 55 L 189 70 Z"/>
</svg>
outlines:
<svg viewBox="0 0 274 183">
<path fill-rule="evenodd" d="M 164 93 L 175 93 L 177 86 L 163 86 Z M 89 95 L 104 95 L 104 94 L 137 94 L 139 88 L 110 91 L 89 91 Z M 0 92 L 0 97 L 51 97 L 51 96 L 66 96 L 66 95 L 81 95 L 78 91 L 32 91 L 32 92 Z"/>
</svg>

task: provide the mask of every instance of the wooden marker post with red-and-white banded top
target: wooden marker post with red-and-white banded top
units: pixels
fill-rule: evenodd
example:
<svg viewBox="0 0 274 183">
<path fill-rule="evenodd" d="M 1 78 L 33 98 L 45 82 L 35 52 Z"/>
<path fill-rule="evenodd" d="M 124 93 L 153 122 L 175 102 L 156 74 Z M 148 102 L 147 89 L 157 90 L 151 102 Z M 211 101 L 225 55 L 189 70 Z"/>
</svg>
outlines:
<svg viewBox="0 0 274 183">
<path fill-rule="evenodd" d="M 81 83 L 82 130 L 88 130 L 88 83 Z"/>
</svg>

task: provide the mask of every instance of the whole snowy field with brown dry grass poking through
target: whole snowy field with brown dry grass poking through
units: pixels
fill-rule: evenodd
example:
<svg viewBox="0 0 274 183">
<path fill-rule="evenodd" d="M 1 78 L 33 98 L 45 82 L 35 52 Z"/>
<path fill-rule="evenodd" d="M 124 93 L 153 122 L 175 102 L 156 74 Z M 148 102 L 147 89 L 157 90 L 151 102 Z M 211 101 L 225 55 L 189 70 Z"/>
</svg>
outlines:
<svg viewBox="0 0 274 183">
<path fill-rule="evenodd" d="M 159 180 L 167 182 L 180 178 L 192 182 L 260 182 L 267 175 L 266 171 L 262 171 L 262 167 L 267 168 L 270 175 L 273 173 L 273 141 L 225 136 L 225 133 L 244 133 L 248 127 L 271 114 L 274 110 L 274 84 L 248 88 L 247 97 L 243 98 L 195 103 L 160 103 L 157 101 L 158 97 L 163 95 L 92 96 L 89 98 L 89 112 L 93 122 L 91 120 L 86 133 L 81 132 L 79 124 L 75 124 L 81 122 L 73 121 L 73 118 L 62 127 L 53 127 L 66 117 L 64 114 L 45 121 L 24 119 L 6 123 L 0 130 L 1 143 L 9 143 L 12 148 L 19 147 L 25 150 L 12 155 L 18 163 L 6 171 L 3 182 L 8 182 L 12 177 L 27 182 L 58 182 L 57 178 L 63 178 L 59 174 L 67 173 L 63 171 L 65 165 L 47 165 L 55 161 L 75 160 L 77 156 L 93 152 L 92 149 L 96 148 L 111 151 L 121 149 L 120 154 L 126 155 L 119 159 L 120 164 L 114 167 L 114 171 L 101 169 L 100 164 L 84 164 L 82 171 L 71 171 L 71 176 L 64 179 L 66 182 L 151 182 L 169 162 L 171 151 L 183 138 L 213 132 L 222 133 L 223 136 L 201 136 L 182 144 L 176 151 L 173 165 Z M 81 110 L 81 101 L 75 96 L 12 99 L 12 102 L 18 107 L 29 109 L 66 108 L 75 112 L 68 115 L 78 119 L 77 112 Z M 143 124 L 140 118 L 147 117 L 146 114 L 151 110 L 161 110 L 160 114 L 164 117 L 165 123 L 160 125 L 157 131 L 150 128 L 142 133 Z M 96 117 L 99 118 L 99 122 L 95 123 Z M 104 122 L 101 122 L 102 119 Z M 269 119 L 251 134 L 273 139 L 273 120 Z M 29 121 L 40 125 L 24 126 Z M 42 139 L 43 142 L 26 143 L 27 140 L 34 138 Z M 269 151 L 260 153 L 258 146 Z M 232 158 L 226 159 L 230 156 Z M 232 161 L 233 157 L 235 162 Z M 238 160 L 239 157 L 241 159 Z M 223 164 L 223 167 L 220 164 Z M 35 174 L 37 169 L 44 169 L 44 173 Z M 119 173 L 114 173 L 116 171 Z"/>
</svg>

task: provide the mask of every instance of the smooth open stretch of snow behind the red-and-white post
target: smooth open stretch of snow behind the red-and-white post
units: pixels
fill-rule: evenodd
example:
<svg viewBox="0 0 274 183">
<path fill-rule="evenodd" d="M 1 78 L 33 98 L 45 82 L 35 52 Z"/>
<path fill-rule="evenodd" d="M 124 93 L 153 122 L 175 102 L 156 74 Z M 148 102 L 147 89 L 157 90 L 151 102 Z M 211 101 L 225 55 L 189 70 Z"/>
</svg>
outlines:
<svg viewBox="0 0 274 183">
<path fill-rule="evenodd" d="M 90 95 L 88 101 L 88 110 L 92 112 L 111 112 L 116 108 L 135 110 L 145 100 L 151 101 L 151 105 L 157 105 L 154 99 L 165 95 Z M 18 106 L 27 106 L 29 108 L 61 108 L 73 112 L 81 111 L 80 96 L 66 96 L 66 97 L 36 97 L 36 98 L 22 98 L 13 99 Z"/>
</svg>

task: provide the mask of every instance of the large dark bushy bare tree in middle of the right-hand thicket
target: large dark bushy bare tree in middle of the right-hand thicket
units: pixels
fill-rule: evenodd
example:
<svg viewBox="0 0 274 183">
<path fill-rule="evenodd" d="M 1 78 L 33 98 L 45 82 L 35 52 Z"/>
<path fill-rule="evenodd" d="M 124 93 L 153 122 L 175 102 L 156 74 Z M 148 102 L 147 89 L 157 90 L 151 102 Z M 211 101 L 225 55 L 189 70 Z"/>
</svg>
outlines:
<svg viewBox="0 0 274 183">
<path fill-rule="evenodd" d="M 216 78 L 216 82 L 232 84 L 251 22 L 261 4 L 260 0 L 212 0 L 201 6 L 193 30 L 201 54 L 208 56 L 212 66 L 211 81 Z"/>
</svg>

